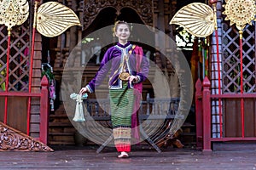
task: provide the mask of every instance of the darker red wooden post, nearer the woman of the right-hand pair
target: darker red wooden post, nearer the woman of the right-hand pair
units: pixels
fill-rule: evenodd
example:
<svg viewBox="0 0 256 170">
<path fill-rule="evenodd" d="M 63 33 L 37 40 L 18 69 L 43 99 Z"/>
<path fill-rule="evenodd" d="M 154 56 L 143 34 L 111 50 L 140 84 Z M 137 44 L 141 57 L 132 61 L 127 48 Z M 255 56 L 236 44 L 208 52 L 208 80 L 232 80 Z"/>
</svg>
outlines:
<svg viewBox="0 0 256 170">
<path fill-rule="evenodd" d="M 201 80 L 195 82 L 195 123 L 196 123 L 196 147 L 202 148 L 203 120 L 202 120 L 202 85 Z"/>
</svg>

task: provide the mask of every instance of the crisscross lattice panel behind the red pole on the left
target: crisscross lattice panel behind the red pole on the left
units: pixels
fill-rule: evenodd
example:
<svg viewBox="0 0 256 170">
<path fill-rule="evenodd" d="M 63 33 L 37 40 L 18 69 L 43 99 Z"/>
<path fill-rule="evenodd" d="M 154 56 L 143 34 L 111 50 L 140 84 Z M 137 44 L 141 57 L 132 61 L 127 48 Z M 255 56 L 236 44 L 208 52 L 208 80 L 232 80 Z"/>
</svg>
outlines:
<svg viewBox="0 0 256 170">
<path fill-rule="evenodd" d="M 27 91 L 29 76 L 28 24 L 11 31 L 9 55 L 9 91 Z M 5 90 L 8 36 L 6 26 L 0 26 L 0 89 Z"/>
</svg>

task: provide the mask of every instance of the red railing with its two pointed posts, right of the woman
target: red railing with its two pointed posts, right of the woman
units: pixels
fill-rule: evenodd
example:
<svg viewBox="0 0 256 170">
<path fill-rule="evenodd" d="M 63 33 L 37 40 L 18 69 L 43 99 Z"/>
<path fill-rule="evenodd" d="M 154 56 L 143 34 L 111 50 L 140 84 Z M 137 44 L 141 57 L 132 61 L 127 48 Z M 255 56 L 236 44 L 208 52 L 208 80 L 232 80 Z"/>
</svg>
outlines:
<svg viewBox="0 0 256 170">
<path fill-rule="evenodd" d="M 256 94 L 211 94 L 211 83 L 207 77 L 195 84 L 195 119 L 196 119 L 196 145 L 203 151 L 212 151 L 212 142 L 224 141 L 256 141 L 256 137 L 224 137 L 212 138 L 212 99 L 256 99 Z M 221 105 L 221 103 L 218 103 Z M 222 119 L 219 116 L 218 119 Z M 244 117 L 241 117 L 241 134 L 244 134 Z M 221 121 L 218 121 L 221 122 Z M 223 132 L 224 122 L 219 125 L 219 133 Z"/>
</svg>

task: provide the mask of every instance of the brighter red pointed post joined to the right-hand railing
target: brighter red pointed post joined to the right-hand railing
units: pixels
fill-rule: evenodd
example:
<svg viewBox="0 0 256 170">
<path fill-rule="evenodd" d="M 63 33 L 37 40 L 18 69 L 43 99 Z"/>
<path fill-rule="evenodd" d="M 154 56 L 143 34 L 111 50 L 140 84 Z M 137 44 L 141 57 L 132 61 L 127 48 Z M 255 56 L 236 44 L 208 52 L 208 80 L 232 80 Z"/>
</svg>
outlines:
<svg viewBox="0 0 256 170">
<path fill-rule="evenodd" d="M 212 151 L 211 149 L 211 83 L 207 77 L 203 81 L 203 151 Z"/>
</svg>

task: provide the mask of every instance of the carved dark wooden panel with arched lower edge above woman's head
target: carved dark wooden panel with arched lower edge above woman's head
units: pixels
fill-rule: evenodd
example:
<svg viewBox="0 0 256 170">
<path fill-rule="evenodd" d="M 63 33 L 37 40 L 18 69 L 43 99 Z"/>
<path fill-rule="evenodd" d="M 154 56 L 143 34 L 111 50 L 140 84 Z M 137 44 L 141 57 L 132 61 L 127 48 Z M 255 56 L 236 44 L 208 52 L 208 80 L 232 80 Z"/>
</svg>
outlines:
<svg viewBox="0 0 256 170">
<path fill-rule="evenodd" d="M 122 8 L 132 8 L 146 25 L 153 26 L 152 5 L 151 0 L 84 0 L 84 30 L 90 26 L 103 8 L 108 7 L 115 8 L 117 15 L 120 14 Z"/>
</svg>

